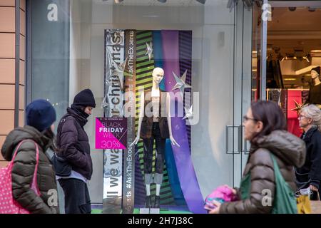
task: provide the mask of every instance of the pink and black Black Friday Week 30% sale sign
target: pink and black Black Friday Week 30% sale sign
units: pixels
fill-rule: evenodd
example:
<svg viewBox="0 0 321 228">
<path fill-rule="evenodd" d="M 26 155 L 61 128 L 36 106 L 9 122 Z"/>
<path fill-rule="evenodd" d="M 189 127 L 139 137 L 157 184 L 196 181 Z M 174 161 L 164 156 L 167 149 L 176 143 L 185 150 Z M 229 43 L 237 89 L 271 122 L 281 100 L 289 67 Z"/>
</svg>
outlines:
<svg viewBox="0 0 321 228">
<path fill-rule="evenodd" d="M 96 118 L 96 149 L 125 150 L 126 118 Z"/>
</svg>

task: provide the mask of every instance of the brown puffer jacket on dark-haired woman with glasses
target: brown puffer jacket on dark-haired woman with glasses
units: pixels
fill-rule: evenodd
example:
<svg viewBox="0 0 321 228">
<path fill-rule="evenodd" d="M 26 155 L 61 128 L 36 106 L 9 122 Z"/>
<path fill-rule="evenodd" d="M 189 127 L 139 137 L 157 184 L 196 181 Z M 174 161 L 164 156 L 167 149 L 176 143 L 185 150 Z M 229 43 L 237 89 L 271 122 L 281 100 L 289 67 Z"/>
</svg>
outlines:
<svg viewBox="0 0 321 228">
<path fill-rule="evenodd" d="M 295 135 L 284 130 L 275 130 L 258 140 L 256 146 L 252 145 L 248 163 L 245 166 L 243 177 L 250 173 L 250 198 L 235 202 L 221 204 L 219 213 L 270 213 L 272 206 L 263 206 L 263 190 L 271 191 L 272 202 L 275 196 L 275 173 L 270 156 L 275 155 L 277 165 L 280 167 L 282 177 L 296 190 L 294 167 L 300 167 L 305 162 L 305 142 Z M 240 199 L 240 191 L 238 190 Z"/>
</svg>

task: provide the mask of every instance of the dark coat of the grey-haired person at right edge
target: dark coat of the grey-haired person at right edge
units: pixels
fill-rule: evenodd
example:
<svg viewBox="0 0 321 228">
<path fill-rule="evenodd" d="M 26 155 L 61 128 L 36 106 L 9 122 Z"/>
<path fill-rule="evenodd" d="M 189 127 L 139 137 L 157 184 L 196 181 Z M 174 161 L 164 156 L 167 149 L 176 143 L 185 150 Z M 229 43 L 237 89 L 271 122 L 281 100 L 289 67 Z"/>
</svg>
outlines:
<svg viewBox="0 0 321 228">
<path fill-rule="evenodd" d="M 305 141 L 307 147 L 307 156 L 305 164 L 295 169 L 295 176 L 297 182 L 307 182 L 307 185 L 298 187 L 308 187 L 308 185 L 314 185 L 320 188 L 321 181 L 321 133 L 317 130 L 317 127 L 312 126 L 307 133 L 301 136 Z"/>
</svg>

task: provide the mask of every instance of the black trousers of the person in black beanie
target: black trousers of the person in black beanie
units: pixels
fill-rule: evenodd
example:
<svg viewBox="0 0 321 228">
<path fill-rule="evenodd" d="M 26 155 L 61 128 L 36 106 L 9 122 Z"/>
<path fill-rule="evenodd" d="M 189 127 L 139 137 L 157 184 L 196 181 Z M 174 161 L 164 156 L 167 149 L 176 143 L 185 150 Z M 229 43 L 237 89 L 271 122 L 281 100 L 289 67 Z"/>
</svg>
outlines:
<svg viewBox="0 0 321 228">
<path fill-rule="evenodd" d="M 66 214 L 91 214 L 91 199 L 85 182 L 75 178 L 60 179 L 65 195 Z"/>
</svg>

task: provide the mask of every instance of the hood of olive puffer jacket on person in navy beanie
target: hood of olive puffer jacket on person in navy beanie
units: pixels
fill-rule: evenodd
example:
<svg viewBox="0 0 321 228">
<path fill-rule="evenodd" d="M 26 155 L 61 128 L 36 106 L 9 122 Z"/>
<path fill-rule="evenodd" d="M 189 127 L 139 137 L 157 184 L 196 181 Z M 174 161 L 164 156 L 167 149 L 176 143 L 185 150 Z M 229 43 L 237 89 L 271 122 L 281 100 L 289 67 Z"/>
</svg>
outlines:
<svg viewBox="0 0 321 228">
<path fill-rule="evenodd" d="M 34 140 L 42 149 L 46 151 L 51 143 L 51 140 L 45 135 L 41 134 L 39 130 L 29 125 L 24 128 L 15 128 L 9 135 L 6 136 L 4 145 L 1 148 L 1 154 L 7 161 L 11 160 L 14 149 L 21 142 L 21 140 L 31 139 Z"/>
</svg>

